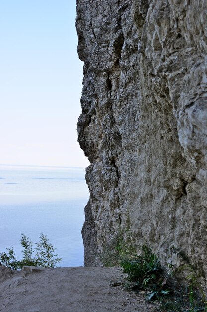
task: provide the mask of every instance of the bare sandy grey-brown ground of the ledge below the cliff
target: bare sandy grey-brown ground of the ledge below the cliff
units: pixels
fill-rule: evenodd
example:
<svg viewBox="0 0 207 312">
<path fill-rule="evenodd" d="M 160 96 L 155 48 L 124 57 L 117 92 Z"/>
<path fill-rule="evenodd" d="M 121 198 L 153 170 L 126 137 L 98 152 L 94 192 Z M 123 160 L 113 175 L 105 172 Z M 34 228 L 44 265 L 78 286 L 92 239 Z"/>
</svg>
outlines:
<svg viewBox="0 0 207 312">
<path fill-rule="evenodd" d="M 120 268 L 74 267 L 37 272 L 31 268 L 24 268 L 30 273 L 14 273 L 0 266 L 0 311 L 152 311 L 153 306 L 143 296 L 129 293 L 120 285 Z"/>
</svg>

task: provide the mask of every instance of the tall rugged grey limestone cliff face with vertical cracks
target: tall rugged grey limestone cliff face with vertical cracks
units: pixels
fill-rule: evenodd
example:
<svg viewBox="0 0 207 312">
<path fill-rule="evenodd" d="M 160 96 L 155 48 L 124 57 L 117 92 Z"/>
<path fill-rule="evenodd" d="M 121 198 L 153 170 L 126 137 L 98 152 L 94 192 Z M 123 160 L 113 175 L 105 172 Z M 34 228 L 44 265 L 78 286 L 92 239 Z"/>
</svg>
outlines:
<svg viewBox="0 0 207 312">
<path fill-rule="evenodd" d="M 76 28 L 85 265 L 130 231 L 163 265 L 174 245 L 206 278 L 207 1 L 77 0 Z"/>
</svg>

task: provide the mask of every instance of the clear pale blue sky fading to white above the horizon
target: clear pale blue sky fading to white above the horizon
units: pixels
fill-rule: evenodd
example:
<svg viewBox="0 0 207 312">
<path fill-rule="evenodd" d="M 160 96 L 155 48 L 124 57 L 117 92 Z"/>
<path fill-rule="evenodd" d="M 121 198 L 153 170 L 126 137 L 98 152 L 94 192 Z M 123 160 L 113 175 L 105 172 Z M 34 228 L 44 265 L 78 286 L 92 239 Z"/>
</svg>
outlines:
<svg viewBox="0 0 207 312">
<path fill-rule="evenodd" d="M 0 164 L 86 167 L 76 0 L 0 0 Z"/>
</svg>

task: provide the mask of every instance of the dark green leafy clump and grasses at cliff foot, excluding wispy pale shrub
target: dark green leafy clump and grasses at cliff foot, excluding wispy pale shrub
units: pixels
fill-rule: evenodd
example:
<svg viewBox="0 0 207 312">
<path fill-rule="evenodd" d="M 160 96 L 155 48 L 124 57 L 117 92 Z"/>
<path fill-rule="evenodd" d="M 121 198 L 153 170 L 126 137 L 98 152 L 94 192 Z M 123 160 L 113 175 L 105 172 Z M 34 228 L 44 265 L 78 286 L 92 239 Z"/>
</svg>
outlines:
<svg viewBox="0 0 207 312">
<path fill-rule="evenodd" d="M 184 286 L 176 276 L 172 263 L 173 252 L 185 259 L 185 265 L 180 267 L 179 271 L 190 272 L 186 275 Z M 187 258 L 174 246 L 171 248 L 169 259 L 171 271 L 165 276 L 159 258 L 149 246 L 143 245 L 141 255 L 128 255 L 120 262 L 123 272 L 128 274 L 126 287 L 135 291 L 143 291 L 146 299 L 156 304 L 154 311 L 157 312 L 207 312 L 206 296 L 198 282 L 199 276 L 196 275 L 195 268 L 186 263 Z M 172 278 L 177 280 L 179 287 L 172 286 Z"/>
</svg>

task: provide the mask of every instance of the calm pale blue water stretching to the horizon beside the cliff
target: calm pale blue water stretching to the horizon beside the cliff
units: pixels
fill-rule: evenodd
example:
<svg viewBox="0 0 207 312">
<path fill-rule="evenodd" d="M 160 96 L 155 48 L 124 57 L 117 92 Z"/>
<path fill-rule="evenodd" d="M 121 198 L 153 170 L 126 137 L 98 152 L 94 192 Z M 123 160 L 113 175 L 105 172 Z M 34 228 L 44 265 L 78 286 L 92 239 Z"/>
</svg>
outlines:
<svg viewBox="0 0 207 312">
<path fill-rule="evenodd" d="M 13 246 L 20 259 L 21 233 L 35 243 L 43 232 L 62 258 L 58 266 L 82 266 L 84 176 L 82 168 L 0 165 L 0 253 Z"/>
</svg>

